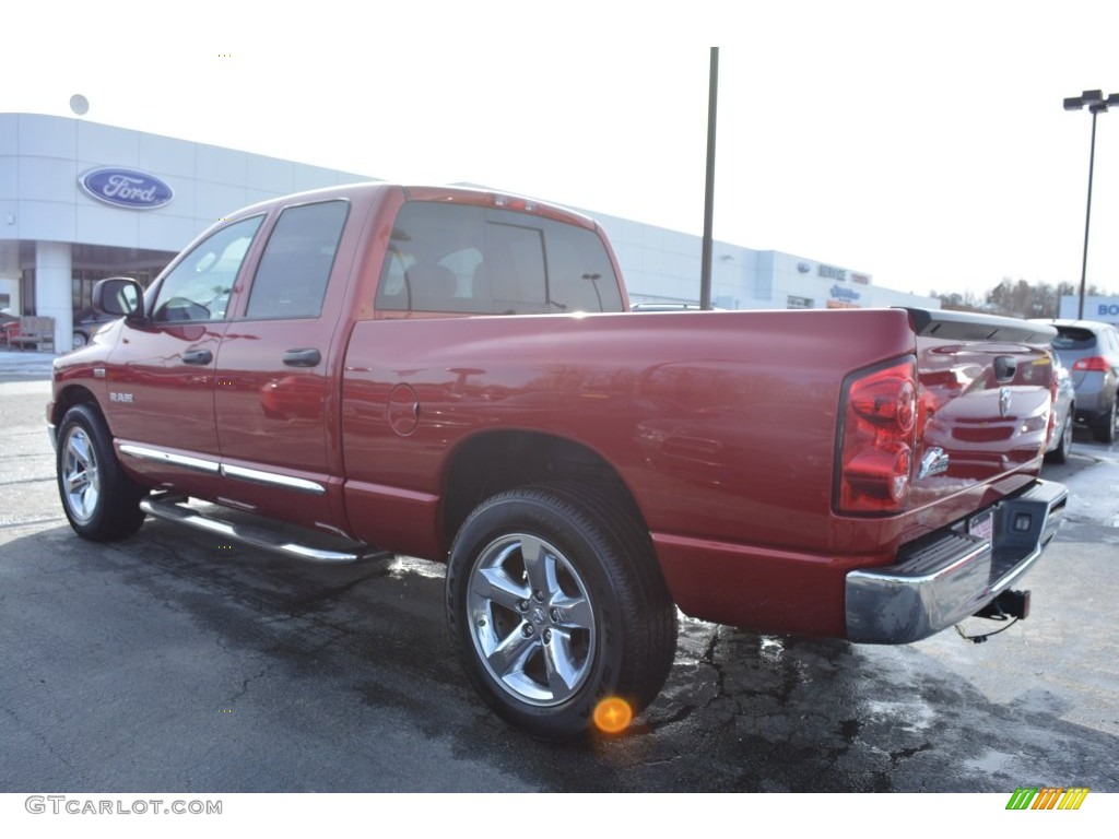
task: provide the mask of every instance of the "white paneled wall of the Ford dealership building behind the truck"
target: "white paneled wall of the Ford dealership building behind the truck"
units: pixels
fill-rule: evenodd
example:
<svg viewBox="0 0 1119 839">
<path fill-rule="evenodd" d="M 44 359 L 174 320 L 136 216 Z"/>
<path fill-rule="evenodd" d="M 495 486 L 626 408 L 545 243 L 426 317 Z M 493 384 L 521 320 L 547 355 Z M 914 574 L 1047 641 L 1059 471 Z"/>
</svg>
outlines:
<svg viewBox="0 0 1119 839">
<path fill-rule="evenodd" d="M 78 186 L 101 167 L 158 178 L 173 198 L 153 209 L 104 204 Z M 358 180 L 377 179 L 83 120 L 0 114 L 0 295 L 22 313 L 20 276 L 34 267 L 35 313 L 55 318 L 55 346 L 65 350 L 72 274 L 79 267 L 75 247 L 173 254 L 245 205 Z M 698 302 L 699 236 L 583 211 L 613 242 L 633 302 Z M 714 243 L 712 302 L 723 309 L 940 305 L 873 285 L 865 272 L 725 242 Z"/>
</svg>

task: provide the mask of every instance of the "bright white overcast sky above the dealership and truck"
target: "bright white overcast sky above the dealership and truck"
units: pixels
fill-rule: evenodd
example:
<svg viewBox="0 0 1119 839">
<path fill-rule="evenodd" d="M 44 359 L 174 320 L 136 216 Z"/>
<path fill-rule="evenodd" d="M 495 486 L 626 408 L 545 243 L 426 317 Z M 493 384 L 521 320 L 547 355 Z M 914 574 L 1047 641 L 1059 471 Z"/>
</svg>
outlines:
<svg viewBox="0 0 1119 839">
<path fill-rule="evenodd" d="M 1091 116 L 1062 100 L 1119 92 L 1113 0 L 241 6 L 21 2 L 0 111 L 81 93 L 87 121 L 699 234 L 717 44 L 716 238 L 916 293 L 1080 281 Z M 1088 264 L 1113 293 L 1117 233 L 1119 110 Z"/>
</svg>

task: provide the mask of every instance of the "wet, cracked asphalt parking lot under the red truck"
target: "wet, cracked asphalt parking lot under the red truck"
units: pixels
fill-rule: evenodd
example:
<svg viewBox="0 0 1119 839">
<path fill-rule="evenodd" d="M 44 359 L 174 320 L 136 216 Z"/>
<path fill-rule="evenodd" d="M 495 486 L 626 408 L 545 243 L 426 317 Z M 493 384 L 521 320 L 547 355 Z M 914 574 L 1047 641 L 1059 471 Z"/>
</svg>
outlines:
<svg viewBox="0 0 1119 839">
<path fill-rule="evenodd" d="M 1007 632 L 878 648 L 685 619 L 624 736 L 557 745 L 476 698 L 438 565 L 301 565 L 158 521 L 76 538 L 48 389 L 34 359 L 0 376 L 0 792 L 1119 792 L 1119 446 L 1078 434 L 1046 466 L 1068 519 Z"/>
</svg>

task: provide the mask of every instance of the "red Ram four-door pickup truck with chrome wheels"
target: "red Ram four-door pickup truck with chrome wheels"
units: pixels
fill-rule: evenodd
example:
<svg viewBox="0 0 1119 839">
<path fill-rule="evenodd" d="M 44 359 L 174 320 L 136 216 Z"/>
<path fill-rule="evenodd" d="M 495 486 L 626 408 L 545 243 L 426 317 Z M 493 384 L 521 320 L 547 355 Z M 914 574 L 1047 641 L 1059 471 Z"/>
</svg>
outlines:
<svg viewBox="0 0 1119 839">
<path fill-rule="evenodd" d="M 540 736 L 650 703 L 677 609 L 869 643 L 1025 616 L 1066 498 L 1037 478 L 1051 328 L 632 313 L 598 225 L 517 197 L 275 199 L 95 301 L 119 320 L 47 408 L 78 535 L 445 562 L 469 678 Z"/>
</svg>

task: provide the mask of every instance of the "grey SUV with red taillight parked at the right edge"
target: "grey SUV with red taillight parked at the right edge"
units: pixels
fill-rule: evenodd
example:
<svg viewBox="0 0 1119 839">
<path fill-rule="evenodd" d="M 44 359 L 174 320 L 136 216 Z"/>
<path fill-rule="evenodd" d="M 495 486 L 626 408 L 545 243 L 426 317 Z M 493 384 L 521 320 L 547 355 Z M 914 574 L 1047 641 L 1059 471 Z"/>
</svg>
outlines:
<svg viewBox="0 0 1119 839">
<path fill-rule="evenodd" d="M 1119 433 L 1119 328 L 1092 320 L 1041 320 L 1057 331 L 1053 349 L 1072 375 L 1076 422 L 1101 443 Z"/>
</svg>

